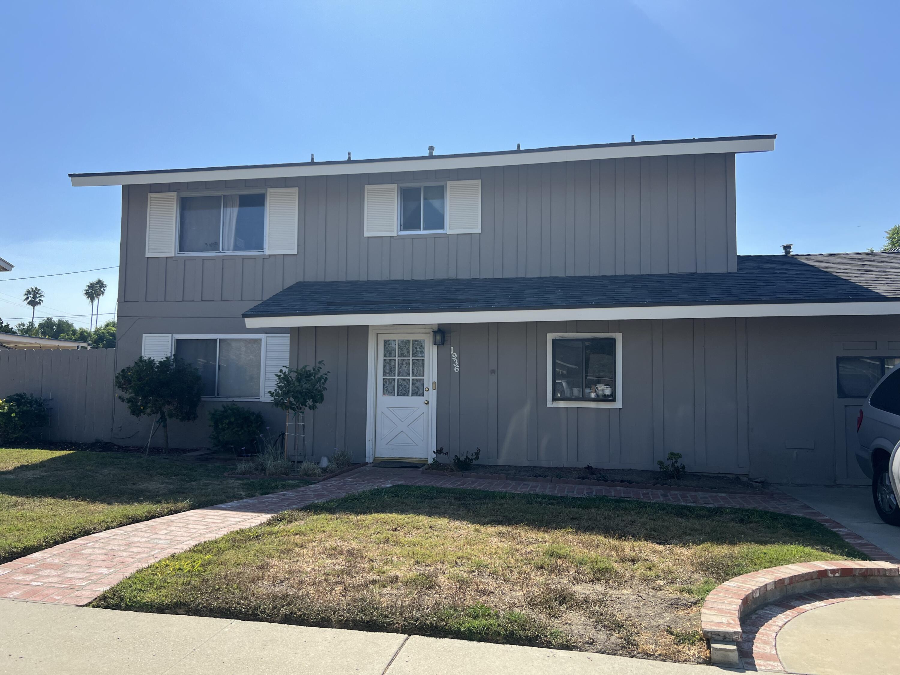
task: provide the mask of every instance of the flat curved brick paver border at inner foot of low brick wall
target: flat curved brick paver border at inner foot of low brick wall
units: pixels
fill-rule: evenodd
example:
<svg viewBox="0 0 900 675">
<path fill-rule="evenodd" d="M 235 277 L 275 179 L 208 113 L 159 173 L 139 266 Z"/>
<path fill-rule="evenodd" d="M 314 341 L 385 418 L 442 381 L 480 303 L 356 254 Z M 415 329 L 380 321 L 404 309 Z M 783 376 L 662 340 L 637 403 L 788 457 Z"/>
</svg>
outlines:
<svg viewBox="0 0 900 675">
<path fill-rule="evenodd" d="M 779 632 L 788 621 L 810 609 L 833 605 L 836 602 L 885 598 L 900 598 L 900 594 L 864 589 L 833 590 L 805 593 L 766 605 L 741 621 L 744 639 L 738 643 L 737 648 L 743 667 L 747 671 L 787 672 L 779 658 L 776 641 Z"/>
</svg>

